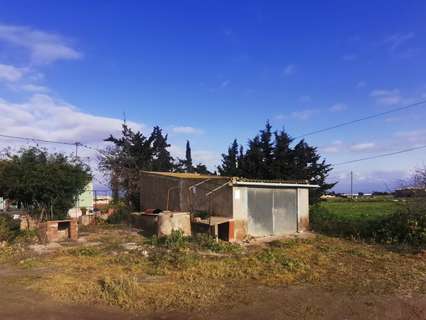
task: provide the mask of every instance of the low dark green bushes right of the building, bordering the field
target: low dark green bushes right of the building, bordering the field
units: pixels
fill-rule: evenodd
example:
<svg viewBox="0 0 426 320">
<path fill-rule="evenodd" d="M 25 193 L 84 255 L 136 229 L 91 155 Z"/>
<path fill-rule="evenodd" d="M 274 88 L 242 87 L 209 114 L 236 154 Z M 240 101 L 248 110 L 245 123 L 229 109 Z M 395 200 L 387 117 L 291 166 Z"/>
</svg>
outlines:
<svg viewBox="0 0 426 320">
<path fill-rule="evenodd" d="M 332 236 L 426 247 L 426 204 L 420 201 L 370 219 L 348 219 L 314 206 L 310 220 L 314 231 Z"/>
</svg>

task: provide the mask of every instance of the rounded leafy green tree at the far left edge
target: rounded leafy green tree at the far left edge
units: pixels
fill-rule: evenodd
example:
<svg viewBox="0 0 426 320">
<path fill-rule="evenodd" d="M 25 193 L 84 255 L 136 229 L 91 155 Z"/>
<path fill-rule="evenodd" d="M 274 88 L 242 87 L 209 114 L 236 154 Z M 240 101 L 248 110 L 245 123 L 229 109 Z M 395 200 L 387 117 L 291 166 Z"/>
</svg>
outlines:
<svg viewBox="0 0 426 320">
<path fill-rule="evenodd" d="M 0 165 L 0 194 L 40 219 L 64 216 L 90 181 L 89 168 L 78 159 L 38 148 L 8 154 Z"/>
</svg>

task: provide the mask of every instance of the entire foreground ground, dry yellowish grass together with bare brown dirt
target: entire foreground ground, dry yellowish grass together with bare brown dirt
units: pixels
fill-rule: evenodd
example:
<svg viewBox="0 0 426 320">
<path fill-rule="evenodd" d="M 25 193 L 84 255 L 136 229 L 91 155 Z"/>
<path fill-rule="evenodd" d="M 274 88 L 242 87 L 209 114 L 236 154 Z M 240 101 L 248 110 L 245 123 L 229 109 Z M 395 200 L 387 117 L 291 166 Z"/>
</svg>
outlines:
<svg viewBox="0 0 426 320">
<path fill-rule="evenodd" d="M 426 319 L 425 253 L 312 235 L 231 253 L 146 244 L 120 228 L 85 238 L 44 253 L 3 248 L 0 320 Z M 116 281 L 136 275 L 136 287 Z"/>
</svg>

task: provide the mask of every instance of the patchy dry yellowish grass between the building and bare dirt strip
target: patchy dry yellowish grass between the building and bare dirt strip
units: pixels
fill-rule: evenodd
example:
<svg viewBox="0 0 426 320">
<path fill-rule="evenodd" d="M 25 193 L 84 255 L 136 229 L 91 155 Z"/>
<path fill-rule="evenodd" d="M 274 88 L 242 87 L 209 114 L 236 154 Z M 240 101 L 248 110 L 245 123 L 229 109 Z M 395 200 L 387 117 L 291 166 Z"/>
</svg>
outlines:
<svg viewBox="0 0 426 320">
<path fill-rule="evenodd" d="M 274 241 L 221 255 L 206 254 L 193 244 L 174 249 L 148 245 L 141 236 L 116 228 L 99 229 L 89 238 L 101 244 L 18 263 L 37 274 L 26 277 L 26 285 L 60 300 L 147 311 L 237 303 L 244 301 L 244 289 L 253 286 L 426 293 L 424 253 L 329 237 Z M 125 251 L 125 242 L 141 248 Z"/>
</svg>

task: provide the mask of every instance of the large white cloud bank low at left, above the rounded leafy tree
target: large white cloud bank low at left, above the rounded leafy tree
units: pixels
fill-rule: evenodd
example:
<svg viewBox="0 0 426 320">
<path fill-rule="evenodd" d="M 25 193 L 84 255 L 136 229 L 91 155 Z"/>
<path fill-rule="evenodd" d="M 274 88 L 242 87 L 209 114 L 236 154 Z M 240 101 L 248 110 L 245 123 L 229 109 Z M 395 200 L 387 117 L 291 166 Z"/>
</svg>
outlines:
<svg viewBox="0 0 426 320">
<path fill-rule="evenodd" d="M 101 143 L 121 131 L 122 120 L 96 116 L 45 94 L 34 94 L 23 103 L 0 99 L 2 134 L 37 139 Z M 135 130 L 142 124 L 128 122 Z"/>
</svg>

